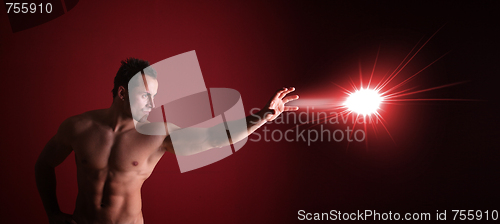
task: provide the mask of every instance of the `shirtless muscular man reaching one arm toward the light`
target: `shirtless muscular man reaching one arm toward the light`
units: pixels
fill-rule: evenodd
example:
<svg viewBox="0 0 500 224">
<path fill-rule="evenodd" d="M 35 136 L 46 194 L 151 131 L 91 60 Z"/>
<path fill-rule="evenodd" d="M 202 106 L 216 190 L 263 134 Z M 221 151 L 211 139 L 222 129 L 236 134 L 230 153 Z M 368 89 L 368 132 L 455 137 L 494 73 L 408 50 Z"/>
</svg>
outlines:
<svg viewBox="0 0 500 224">
<path fill-rule="evenodd" d="M 158 90 L 156 71 L 148 67 L 147 61 L 135 58 L 129 58 L 121 64 L 114 80 L 111 107 L 65 120 L 36 162 L 36 183 L 51 224 L 144 223 L 141 211 L 142 184 L 162 155 L 166 151 L 174 153 L 174 149 L 168 133 L 143 135 L 136 131 L 134 125 L 134 122 L 141 122 L 154 107 L 153 98 Z M 144 86 L 128 89 L 131 78 L 141 71 L 148 90 Z M 247 130 L 233 135 L 230 141 L 237 142 L 247 137 L 284 111 L 297 110 L 297 107 L 284 105 L 298 99 L 297 95 L 286 96 L 292 91 L 293 87 L 278 90 L 260 112 L 245 118 Z M 134 117 L 133 114 L 144 116 Z M 221 141 L 210 137 L 199 139 L 198 147 L 186 154 L 221 147 L 218 142 Z M 78 196 L 74 213 L 70 215 L 59 209 L 54 169 L 72 151 L 75 152 Z"/>
</svg>

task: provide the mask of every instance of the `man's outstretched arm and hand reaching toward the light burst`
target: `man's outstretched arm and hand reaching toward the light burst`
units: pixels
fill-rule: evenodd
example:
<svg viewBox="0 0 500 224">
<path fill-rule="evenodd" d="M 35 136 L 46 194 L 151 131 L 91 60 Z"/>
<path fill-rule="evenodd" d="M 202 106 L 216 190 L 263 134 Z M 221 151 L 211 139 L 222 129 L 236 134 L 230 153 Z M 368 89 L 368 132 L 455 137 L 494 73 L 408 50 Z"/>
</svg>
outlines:
<svg viewBox="0 0 500 224">
<path fill-rule="evenodd" d="M 173 132 L 182 133 L 178 135 L 182 137 L 180 139 L 175 139 L 175 150 L 170 136 L 167 136 L 165 139 L 164 147 L 167 151 L 175 154 L 192 155 L 211 148 L 220 148 L 228 144 L 241 141 L 266 122 L 276 119 L 281 113 L 285 111 L 298 110 L 298 107 L 296 106 L 285 105 L 286 103 L 299 98 L 298 95 L 287 96 L 287 94 L 293 92 L 294 90 L 295 88 L 293 87 L 280 89 L 258 113 L 243 118 L 243 121 L 238 120 L 227 122 L 228 126 L 231 126 L 231 123 L 240 124 L 241 122 L 245 122 L 247 127 L 246 129 L 236 130 L 231 133 L 227 130 L 226 132 L 220 132 L 219 130 L 225 129 L 224 123 L 211 128 L 177 129 L 173 130 Z M 227 141 L 228 136 L 229 142 Z"/>
</svg>

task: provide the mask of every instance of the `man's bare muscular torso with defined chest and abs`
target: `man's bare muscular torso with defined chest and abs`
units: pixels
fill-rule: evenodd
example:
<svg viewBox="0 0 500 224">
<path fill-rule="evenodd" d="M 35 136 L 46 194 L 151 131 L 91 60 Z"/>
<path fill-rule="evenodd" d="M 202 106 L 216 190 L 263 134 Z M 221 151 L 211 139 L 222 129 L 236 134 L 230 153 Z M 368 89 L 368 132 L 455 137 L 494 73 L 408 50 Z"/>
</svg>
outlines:
<svg viewBox="0 0 500 224">
<path fill-rule="evenodd" d="M 165 136 L 135 128 L 114 131 L 99 122 L 99 111 L 79 122 L 72 136 L 78 196 L 73 219 L 78 224 L 142 224 L 141 186 L 164 153 Z"/>
</svg>

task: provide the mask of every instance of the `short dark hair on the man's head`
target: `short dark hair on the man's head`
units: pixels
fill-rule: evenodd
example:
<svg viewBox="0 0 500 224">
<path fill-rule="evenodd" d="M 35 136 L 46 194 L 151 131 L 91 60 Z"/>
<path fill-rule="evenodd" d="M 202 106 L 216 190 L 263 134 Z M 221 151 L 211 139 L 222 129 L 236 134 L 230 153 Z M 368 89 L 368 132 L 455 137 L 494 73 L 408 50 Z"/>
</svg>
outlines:
<svg viewBox="0 0 500 224">
<path fill-rule="evenodd" d="M 111 92 L 113 93 L 113 98 L 118 95 L 118 88 L 120 86 L 125 87 L 128 90 L 128 83 L 130 79 L 134 77 L 141 70 L 144 70 L 144 74 L 156 78 L 156 71 L 149 67 L 149 62 L 137 58 L 127 58 L 121 61 L 121 66 L 115 76 L 114 87 Z"/>
</svg>

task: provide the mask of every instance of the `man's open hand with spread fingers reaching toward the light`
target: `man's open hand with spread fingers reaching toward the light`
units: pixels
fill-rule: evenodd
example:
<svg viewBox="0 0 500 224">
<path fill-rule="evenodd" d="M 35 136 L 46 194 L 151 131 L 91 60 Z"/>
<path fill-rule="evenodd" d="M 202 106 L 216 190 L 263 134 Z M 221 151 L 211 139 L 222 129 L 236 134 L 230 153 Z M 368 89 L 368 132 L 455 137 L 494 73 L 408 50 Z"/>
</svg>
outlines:
<svg viewBox="0 0 500 224">
<path fill-rule="evenodd" d="M 288 93 L 291 93 L 295 90 L 294 87 L 283 88 L 276 92 L 273 98 L 266 104 L 266 106 L 262 109 L 264 113 L 264 119 L 267 121 L 272 121 L 280 116 L 284 111 L 296 111 L 299 109 L 297 106 L 285 106 L 286 103 L 296 100 L 299 98 L 299 95 L 286 96 Z"/>
</svg>

